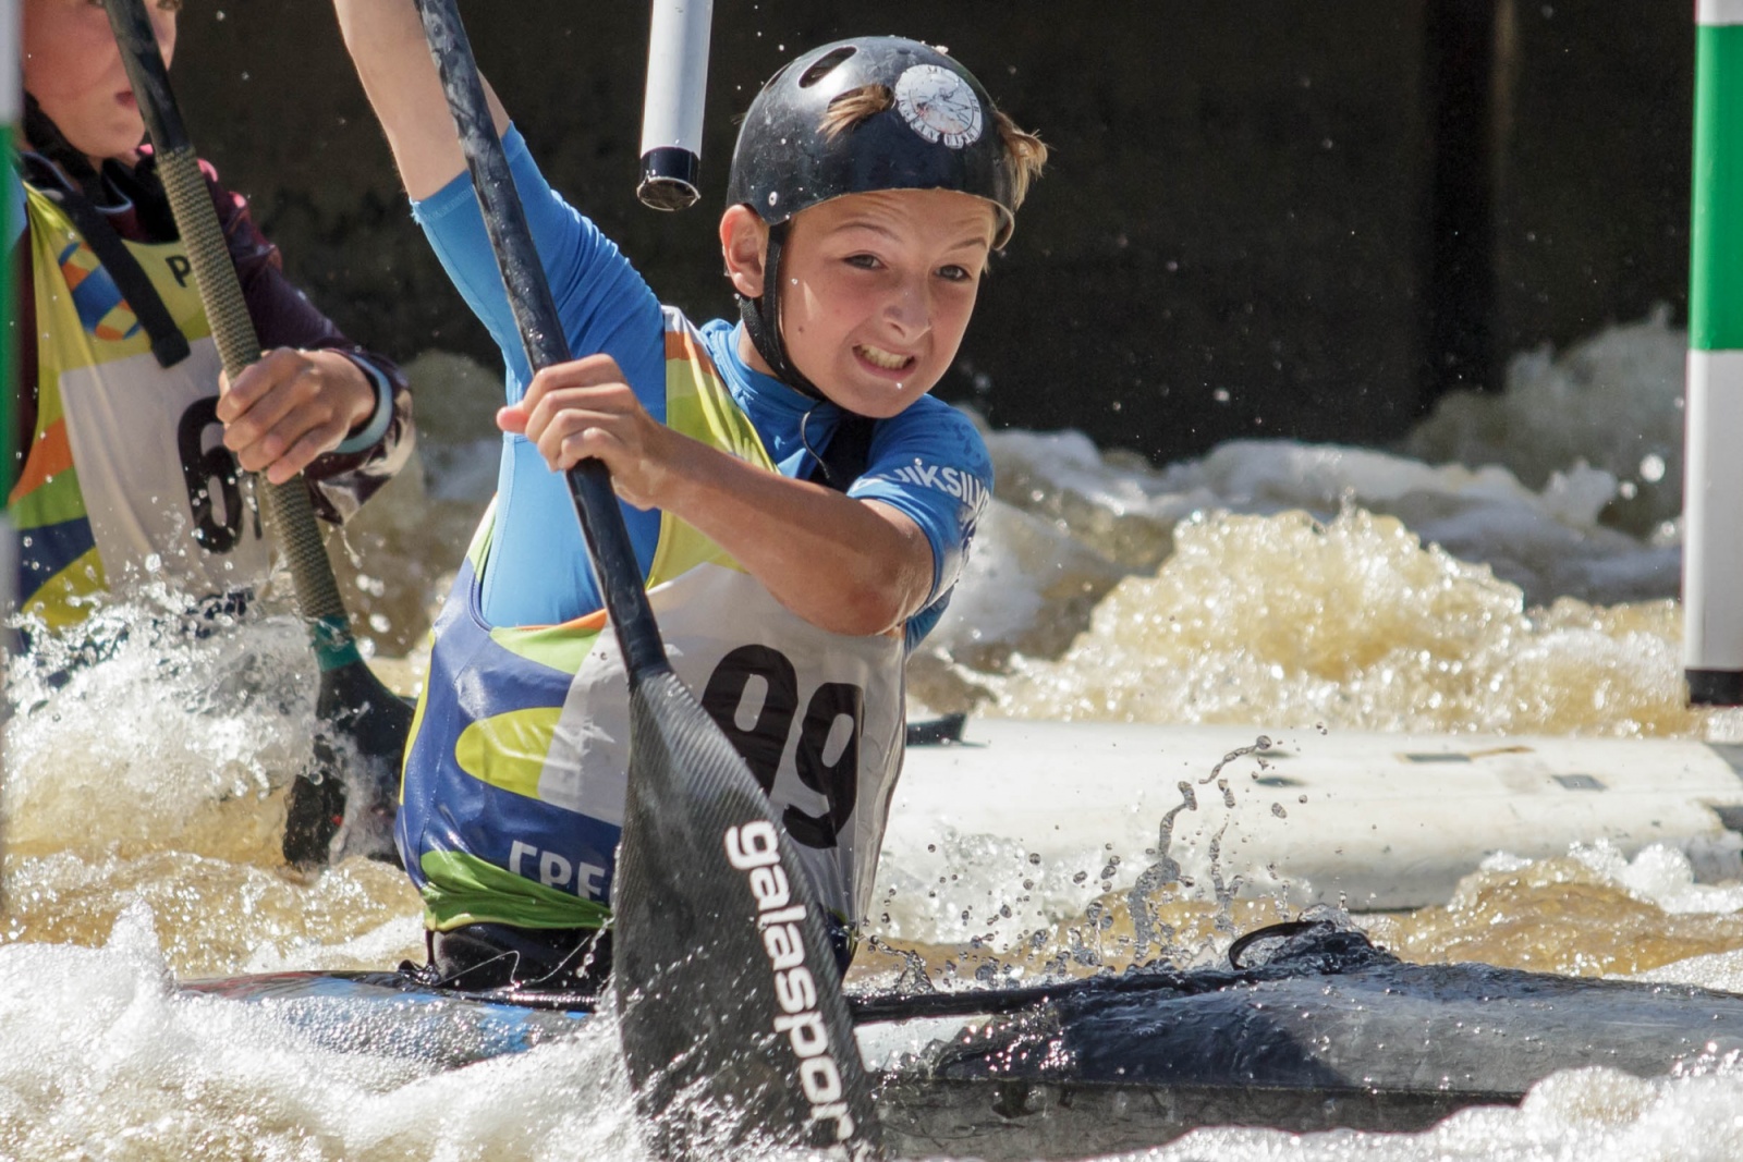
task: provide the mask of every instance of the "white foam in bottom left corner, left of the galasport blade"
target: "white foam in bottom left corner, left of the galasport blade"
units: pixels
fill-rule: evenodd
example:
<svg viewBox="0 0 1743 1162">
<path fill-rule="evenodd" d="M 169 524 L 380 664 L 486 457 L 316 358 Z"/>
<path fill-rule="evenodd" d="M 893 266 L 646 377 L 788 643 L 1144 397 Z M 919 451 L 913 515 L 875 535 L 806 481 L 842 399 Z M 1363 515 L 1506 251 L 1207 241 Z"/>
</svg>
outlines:
<svg viewBox="0 0 1743 1162">
<path fill-rule="evenodd" d="M 152 929 L 134 906 L 103 948 L 0 948 L 0 1155 L 641 1157 L 610 1021 L 448 1073 L 331 1052 L 268 1005 L 174 995 Z"/>
</svg>

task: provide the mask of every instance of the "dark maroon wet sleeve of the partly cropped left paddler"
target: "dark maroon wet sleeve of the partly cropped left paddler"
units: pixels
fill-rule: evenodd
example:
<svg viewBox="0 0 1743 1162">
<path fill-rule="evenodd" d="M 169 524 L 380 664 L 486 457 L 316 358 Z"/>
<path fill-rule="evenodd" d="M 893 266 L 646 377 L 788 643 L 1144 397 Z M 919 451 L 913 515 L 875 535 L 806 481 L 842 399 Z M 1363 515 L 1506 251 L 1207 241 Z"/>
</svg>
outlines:
<svg viewBox="0 0 1743 1162">
<path fill-rule="evenodd" d="M 225 190 L 216 171 L 200 162 L 211 188 L 218 225 L 235 263 L 242 300 L 261 350 L 336 350 L 363 369 L 376 387 L 375 415 L 349 434 L 335 451 L 317 456 L 303 472 L 315 512 L 343 521 L 411 460 L 411 388 L 399 368 L 347 338 L 338 326 L 284 277 L 279 247 L 254 225 L 248 200 Z"/>
</svg>

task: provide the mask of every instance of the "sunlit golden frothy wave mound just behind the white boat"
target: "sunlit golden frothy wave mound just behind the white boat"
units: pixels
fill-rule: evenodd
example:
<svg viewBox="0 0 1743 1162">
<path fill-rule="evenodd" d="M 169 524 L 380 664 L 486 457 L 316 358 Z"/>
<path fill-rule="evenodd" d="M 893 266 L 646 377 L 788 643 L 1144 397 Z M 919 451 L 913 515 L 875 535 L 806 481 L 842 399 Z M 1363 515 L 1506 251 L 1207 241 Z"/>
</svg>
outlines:
<svg viewBox="0 0 1743 1162">
<path fill-rule="evenodd" d="M 1487 566 L 1365 509 L 1222 514 L 1177 526 L 1058 660 L 981 685 L 1016 718 L 1698 733 L 1679 641 L 1670 601 L 1527 611 Z"/>
</svg>

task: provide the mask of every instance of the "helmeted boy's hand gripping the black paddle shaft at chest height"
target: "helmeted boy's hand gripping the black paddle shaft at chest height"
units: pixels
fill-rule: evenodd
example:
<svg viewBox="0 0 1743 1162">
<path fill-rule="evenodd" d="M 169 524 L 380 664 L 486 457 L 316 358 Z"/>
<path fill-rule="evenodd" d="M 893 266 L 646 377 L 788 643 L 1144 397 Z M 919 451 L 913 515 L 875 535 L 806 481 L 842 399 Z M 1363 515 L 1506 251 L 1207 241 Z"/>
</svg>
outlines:
<svg viewBox="0 0 1743 1162">
<path fill-rule="evenodd" d="M 497 411 L 497 427 L 530 439 L 558 472 L 603 460 L 612 488 L 638 509 L 659 503 L 682 439 L 647 413 L 610 355 L 546 368 L 521 402 Z"/>
</svg>

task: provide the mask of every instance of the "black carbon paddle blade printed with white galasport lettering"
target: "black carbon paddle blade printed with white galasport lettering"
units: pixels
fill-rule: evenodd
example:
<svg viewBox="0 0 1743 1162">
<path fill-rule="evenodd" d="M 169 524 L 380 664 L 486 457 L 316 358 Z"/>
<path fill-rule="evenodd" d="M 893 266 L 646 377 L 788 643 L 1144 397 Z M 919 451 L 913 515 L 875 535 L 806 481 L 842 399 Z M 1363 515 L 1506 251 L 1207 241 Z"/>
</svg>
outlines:
<svg viewBox="0 0 1743 1162">
<path fill-rule="evenodd" d="M 624 1059 L 662 1157 L 880 1157 L 810 878 L 744 760 L 671 671 L 631 693 L 612 894 Z"/>
</svg>

